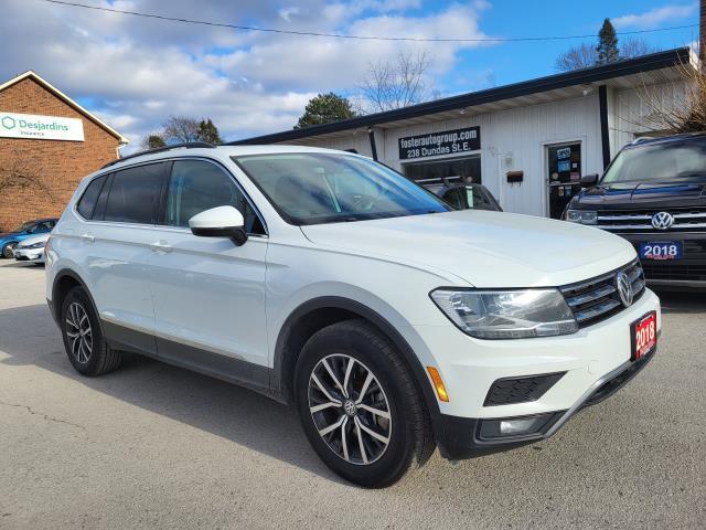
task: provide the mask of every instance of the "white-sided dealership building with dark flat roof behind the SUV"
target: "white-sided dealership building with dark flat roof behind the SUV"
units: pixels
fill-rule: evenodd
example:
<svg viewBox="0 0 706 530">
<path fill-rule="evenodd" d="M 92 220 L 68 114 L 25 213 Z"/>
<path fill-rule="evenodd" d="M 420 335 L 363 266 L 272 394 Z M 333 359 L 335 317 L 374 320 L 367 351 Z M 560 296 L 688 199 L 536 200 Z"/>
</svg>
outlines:
<svg viewBox="0 0 706 530">
<path fill-rule="evenodd" d="M 233 144 L 352 150 L 417 181 L 480 182 L 510 212 L 558 218 L 581 176 L 663 132 L 652 130 L 655 109 L 683 104 L 683 68 L 697 63 L 670 50 Z"/>
</svg>

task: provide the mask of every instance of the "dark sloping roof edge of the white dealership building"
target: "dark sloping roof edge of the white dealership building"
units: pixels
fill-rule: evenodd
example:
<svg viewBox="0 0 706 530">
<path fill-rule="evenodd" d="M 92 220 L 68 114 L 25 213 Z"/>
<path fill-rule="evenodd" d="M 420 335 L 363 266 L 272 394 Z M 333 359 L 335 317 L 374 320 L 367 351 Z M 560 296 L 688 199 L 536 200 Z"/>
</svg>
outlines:
<svg viewBox="0 0 706 530">
<path fill-rule="evenodd" d="M 227 144 L 276 144 L 301 140 L 312 136 L 334 136 L 336 132 L 340 135 L 342 131 L 373 126 L 402 127 L 428 121 L 429 119 L 458 118 L 459 112 L 464 114 L 466 110 L 469 110 L 471 115 L 483 114 L 518 105 L 546 103 L 561 97 L 577 97 L 581 95 L 584 89 L 581 87 L 592 87 L 597 84 L 612 84 L 613 86 L 625 88 L 638 84 L 654 83 L 661 81 L 655 76 L 650 77 L 650 74 L 656 73 L 656 71 L 674 71 L 680 65 L 694 65 L 695 63 L 696 57 L 688 47 L 678 47 L 602 66 L 564 72 L 384 113 L 368 114 L 331 124 L 285 130 Z M 672 76 L 676 78 L 674 72 L 672 72 Z"/>
</svg>

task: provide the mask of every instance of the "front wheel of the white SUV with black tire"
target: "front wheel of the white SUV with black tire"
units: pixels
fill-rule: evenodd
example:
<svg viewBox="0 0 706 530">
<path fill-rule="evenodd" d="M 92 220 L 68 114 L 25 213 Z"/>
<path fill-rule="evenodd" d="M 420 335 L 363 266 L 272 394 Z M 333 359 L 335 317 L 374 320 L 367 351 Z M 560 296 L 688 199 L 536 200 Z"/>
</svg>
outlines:
<svg viewBox="0 0 706 530">
<path fill-rule="evenodd" d="M 341 374 L 341 369 L 347 368 L 351 358 L 355 362 L 347 370 L 351 373 L 349 384 L 339 381 L 342 383 L 338 386 L 341 391 L 334 394 L 335 383 L 322 371 L 322 360 L 327 360 L 334 373 L 338 369 Z M 310 411 L 312 405 L 315 409 L 323 401 L 330 401 L 319 390 L 312 373 L 318 374 L 317 380 L 322 385 L 328 386 L 329 383 L 331 388 L 328 389 L 328 395 L 341 401 L 342 405 L 330 405 L 313 413 Z M 356 399 L 365 404 L 365 395 L 361 398 L 364 384 L 360 381 L 367 379 L 366 373 L 372 373 L 374 378 L 368 386 L 372 390 L 366 394 L 371 400 L 377 400 L 370 404 L 376 410 L 387 411 L 388 420 L 362 407 L 352 407 L 352 412 L 345 409 L 346 403 L 351 409 L 351 402 L 355 403 Z M 321 378 L 330 379 L 327 379 L 327 383 Z M 345 393 L 344 386 L 349 390 Z M 368 488 L 389 486 L 407 473 L 415 456 L 421 465 L 435 448 L 429 413 L 414 374 L 389 340 L 365 320 L 345 320 L 331 325 L 307 341 L 297 361 L 295 394 L 302 427 L 313 449 L 327 466 L 351 483 Z M 322 400 L 315 401 L 317 399 Z M 346 423 L 350 420 L 351 424 L 343 424 L 325 436 L 319 434 L 320 431 L 325 431 L 327 425 L 338 423 L 336 418 Z M 383 434 L 388 439 L 386 447 L 381 449 L 384 443 L 370 435 L 365 437 L 365 431 L 361 431 L 359 424 L 365 424 Z M 364 441 L 361 441 L 361 434 L 364 435 Z M 343 442 L 343 437 L 349 442 Z M 356 442 L 360 444 L 357 448 Z M 363 454 L 371 456 L 370 462 L 364 463 Z M 378 456 L 373 459 L 376 454 Z"/>
</svg>

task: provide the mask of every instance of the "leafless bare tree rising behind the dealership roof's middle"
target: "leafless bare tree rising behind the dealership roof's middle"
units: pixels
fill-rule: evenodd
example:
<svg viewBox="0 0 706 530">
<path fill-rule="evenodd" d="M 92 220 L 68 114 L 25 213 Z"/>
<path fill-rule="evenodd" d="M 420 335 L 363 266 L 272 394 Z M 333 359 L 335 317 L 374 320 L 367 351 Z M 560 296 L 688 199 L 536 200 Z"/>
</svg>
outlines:
<svg viewBox="0 0 706 530">
<path fill-rule="evenodd" d="M 373 110 L 392 110 L 427 100 L 435 92 L 427 73 L 432 57 L 426 52 L 400 53 L 396 61 L 370 63 L 360 92 Z"/>
</svg>

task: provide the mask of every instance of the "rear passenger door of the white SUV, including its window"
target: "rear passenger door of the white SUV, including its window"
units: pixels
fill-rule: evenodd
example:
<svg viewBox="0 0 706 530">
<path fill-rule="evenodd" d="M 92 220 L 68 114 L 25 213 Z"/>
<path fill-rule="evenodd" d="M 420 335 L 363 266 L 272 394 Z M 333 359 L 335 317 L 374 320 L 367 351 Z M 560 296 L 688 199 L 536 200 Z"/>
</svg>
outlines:
<svg viewBox="0 0 706 530">
<path fill-rule="evenodd" d="M 107 337 L 150 353 L 157 346 L 148 259 L 168 169 L 146 163 L 100 177 L 99 191 L 89 184 L 76 209 L 84 218 L 79 255 Z"/>
</svg>

